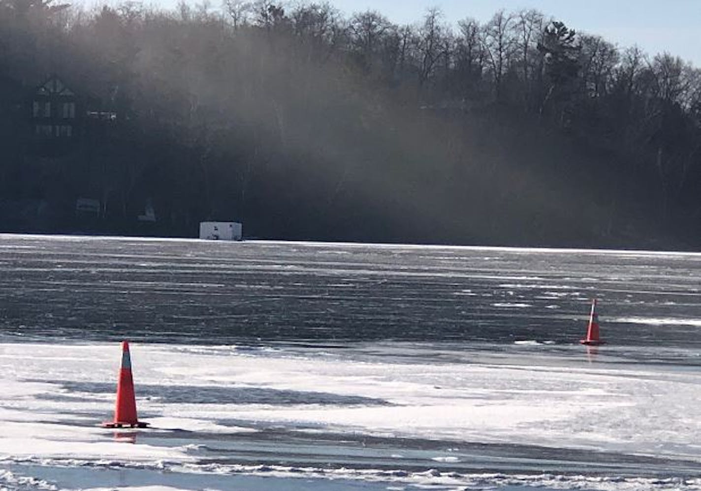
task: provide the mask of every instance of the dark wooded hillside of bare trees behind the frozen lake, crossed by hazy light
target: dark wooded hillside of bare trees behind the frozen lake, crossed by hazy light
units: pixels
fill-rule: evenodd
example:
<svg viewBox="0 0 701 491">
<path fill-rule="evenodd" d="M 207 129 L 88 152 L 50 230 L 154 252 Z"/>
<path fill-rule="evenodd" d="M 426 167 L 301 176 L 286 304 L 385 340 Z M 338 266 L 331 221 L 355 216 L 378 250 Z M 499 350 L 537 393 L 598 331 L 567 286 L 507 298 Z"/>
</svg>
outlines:
<svg viewBox="0 0 701 491">
<path fill-rule="evenodd" d="M 48 74 L 118 122 L 33 156 L 17 121 Z M 68 216 L 94 197 L 101 230 L 137 232 L 151 200 L 168 235 L 701 244 L 701 71 L 538 11 L 400 26 L 329 4 L 0 0 L 0 89 L 6 202 Z"/>
</svg>

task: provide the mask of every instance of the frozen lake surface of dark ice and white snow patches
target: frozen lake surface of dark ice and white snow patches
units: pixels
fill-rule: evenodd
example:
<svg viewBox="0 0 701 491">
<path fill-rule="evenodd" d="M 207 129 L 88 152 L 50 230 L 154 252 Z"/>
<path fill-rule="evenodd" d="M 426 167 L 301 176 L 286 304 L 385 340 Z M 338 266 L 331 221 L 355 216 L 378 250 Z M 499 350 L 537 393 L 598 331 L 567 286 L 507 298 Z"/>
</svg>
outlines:
<svg viewBox="0 0 701 491">
<path fill-rule="evenodd" d="M 701 490 L 698 254 L 0 235 L 0 295 L 0 489 Z"/>
</svg>

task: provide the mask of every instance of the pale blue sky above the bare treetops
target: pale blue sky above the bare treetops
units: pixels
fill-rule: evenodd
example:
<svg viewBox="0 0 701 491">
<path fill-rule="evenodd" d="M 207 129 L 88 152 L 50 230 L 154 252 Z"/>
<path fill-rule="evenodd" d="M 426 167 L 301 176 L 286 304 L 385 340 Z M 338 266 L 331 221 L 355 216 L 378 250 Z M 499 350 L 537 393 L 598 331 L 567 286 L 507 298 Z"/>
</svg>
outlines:
<svg viewBox="0 0 701 491">
<path fill-rule="evenodd" d="M 441 8 L 455 24 L 465 17 L 489 20 L 500 8 L 536 8 L 580 32 L 599 34 L 621 47 L 637 44 L 648 54 L 667 51 L 701 67 L 701 0 L 329 0 L 343 13 L 379 11 L 393 22 L 421 20 Z"/>
</svg>

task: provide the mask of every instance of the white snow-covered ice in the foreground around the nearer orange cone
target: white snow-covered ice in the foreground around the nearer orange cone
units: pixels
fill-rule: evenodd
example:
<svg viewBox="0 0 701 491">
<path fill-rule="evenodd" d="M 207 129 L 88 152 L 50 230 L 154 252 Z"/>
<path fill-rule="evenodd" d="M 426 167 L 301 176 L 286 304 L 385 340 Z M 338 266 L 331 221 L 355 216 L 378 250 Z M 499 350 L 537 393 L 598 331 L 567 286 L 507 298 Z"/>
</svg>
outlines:
<svg viewBox="0 0 701 491">
<path fill-rule="evenodd" d="M 435 347 L 414 346 L 419 352 L 424 349 L 435 352 Z M 255 435 L 259 431 L 282 427 L 339 435 L 336 438 L 364 434 L 367 438 L 615 451 L 676 459 L 690 469 L 701 468 L 701 446 L 697 445 L 701 438 L 697 425 L 701 389 L 695 371 L 665 366 L 626 370 L 599 365 L 595 359 L 591 364 L 566 359 L 553 364 L 551 357 L 537 351 L 547 349 L 547 345 L 526 345 L 524 349 L 519 355 L 522 362 L 514 358 L 500 362 L 488 352 L 473 351 L 465 363 L 440 363 L 407 361 L 391 349 L 383 357 L 367 357 L 362 350 L 348 347 L 240 350 L 132 343 L 140 415 L 154 428 L 132 431 L 136 443 L 129 445 L 118 438 L 118 432 L 97 427 L 111 416 L 113 399 L 102 387 L 114 382 L 118 345 L 5 343 L 0 345 L 5 373 L 0 395 L 0 465 L 127 466 L 278 477 L 301 472 L 316 478 L 336 473 L 344 479 L 444 486 L 492 481 L 502 485 L 548 485 L 550 479 L 541 476 L 531 482 L 528 476 L 482 476 L 475 481 L 470 473 L 449 471 L 402 471 L 388 476 L 373 467 L 367 472 L 323 466 L 302 466 L 296 471 L 280 465 L 212 464 L 202 459 L 212 444 L 182 444 L 168 436 L 184 431 L 201 435 L 194 439 L 190 436 L 190 442 L 198 438 L 213 438 L 216 442 L 226 435 L 258 438 Z M 584 357 L 584 352 L 580 356 Z M 231 387 L 243 388 L 241 394 L 245 394 L 245 388 L 270 392 L 266 392 L 269 400 L 256 403 L 248 403 L 245 396 L 241 403 L 213 403 L 209 399 L 196 403 L 181 398 L 170 401 L 167 390 L 159 398 L 141 396 L 140 385 L 189 387 L 194 401 L 198 400 L 198 390 L 211 391 L 212 387 L 219 387 L 224 396 Z M 362 398 L 359 401 L 382 400 L 386 404 L 334 406 L 318 401 L 290 404 L 276 399 L 278 394 L 290 391 L 355 396 Z M 158 434 L 163 434 L 158 437 L 161 440 Z M 396 457 L 388 458 L 397 462 Z M 426 459 L 460 466 L 469 457 L 443 450 L 427 452 Z M 558 485 L 580 487 L 581 483 L 576 484 L 579 481 L 568 479 L 573 478 L 557 478 Z M 679 487 L 678 481 L 670 482 Z M 591 489 L 609 489 L 606 486 L 610 484 L 587 480 Z M 666 486 L 645 481 L 640 489 L 655 489 L 655 485 L 660 489 Z M 689 489 L 696 485 L 690 480 L 683 482 Z M 630 489 L 634 488 L 631 485 Z"/>
</svg>

